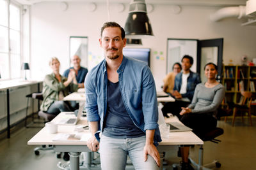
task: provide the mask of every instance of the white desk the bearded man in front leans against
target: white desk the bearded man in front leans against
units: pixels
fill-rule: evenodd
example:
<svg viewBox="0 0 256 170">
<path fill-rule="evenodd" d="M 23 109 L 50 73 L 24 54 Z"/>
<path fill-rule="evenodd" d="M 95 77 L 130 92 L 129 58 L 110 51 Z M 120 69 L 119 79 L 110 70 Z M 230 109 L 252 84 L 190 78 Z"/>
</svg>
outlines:
<svg viewBox="0 0 256 170">
<path fill-rule="evenodd" d="M 65 115 L 60 113 L 52 122 L 59 122 L 63 117 L 72 117 L 73 115 Z M 167 122 L 177 121 L 175 118 L 168 118 Z M 86 118 L 82 118 L 79 124 L 87 125 Z M 67 133 L 74 132 L 75 125 L 59 125 L 58 132 Z M 85 134 L 90 136 L 88 130 L 84 130 Z M 53 145 L 57 152 L 70 152 L 70 169 L 79 169 L 79 155 L 81 152 L 90 152 L 86 146 L 86 141 L 52 141 L 57 134 L 49 134 L 44 127 L 33 138 L 28 141 L 28 145 Z M 164 152 L 179 145 L 203 145 L 204 142 L 198 138 L 193 132 L 172 132 L 168 139 L 163 139 L 157 149 Z"/>
</svg>

